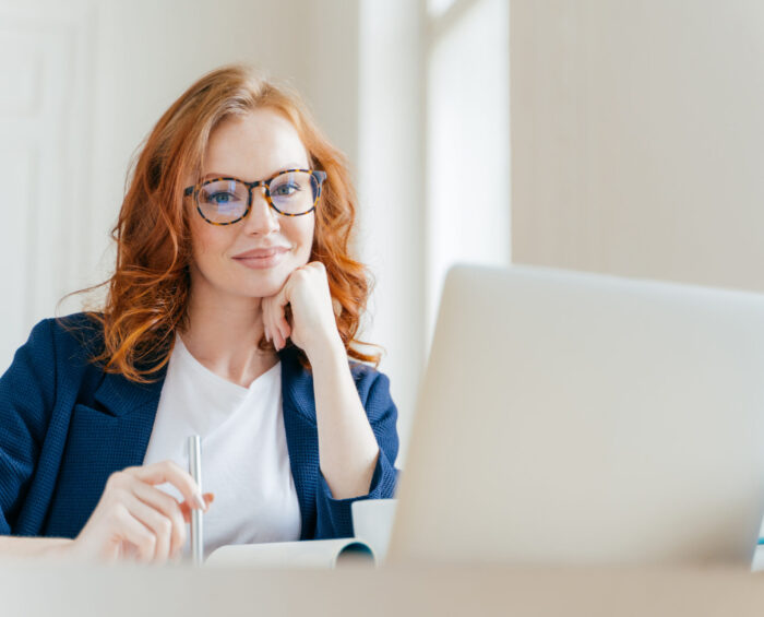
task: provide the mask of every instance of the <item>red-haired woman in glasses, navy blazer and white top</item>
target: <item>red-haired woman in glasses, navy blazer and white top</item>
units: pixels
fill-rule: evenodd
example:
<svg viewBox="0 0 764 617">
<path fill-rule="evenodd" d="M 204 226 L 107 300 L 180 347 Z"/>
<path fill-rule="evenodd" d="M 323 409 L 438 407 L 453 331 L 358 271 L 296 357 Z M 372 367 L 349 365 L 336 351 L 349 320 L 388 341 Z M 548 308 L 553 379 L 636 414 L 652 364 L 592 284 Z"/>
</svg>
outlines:
<svg viewBox="0 0 764 617">
<path fill-rule="evenodd" d="M 386 377 L 348 361 L 379 360 L 354 347 L 354 214 L 295 94 L 242 67 L 193 84 L 138 158 L 105 307 L 38 323 L 0 379 L 0 551 L 164 562 L 191 508 L 206 553 L 353 535 L 398 447 Z"/>
</svg>

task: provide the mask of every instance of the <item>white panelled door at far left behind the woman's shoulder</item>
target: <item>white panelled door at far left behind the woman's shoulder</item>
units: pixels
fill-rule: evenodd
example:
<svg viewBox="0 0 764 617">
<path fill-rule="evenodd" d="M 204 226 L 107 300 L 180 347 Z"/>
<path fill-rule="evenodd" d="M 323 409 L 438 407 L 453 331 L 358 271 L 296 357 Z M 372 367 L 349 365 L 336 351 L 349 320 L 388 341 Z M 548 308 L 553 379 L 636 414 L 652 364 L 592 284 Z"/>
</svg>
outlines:
<svg viewBox="0 0 764 617">
<path fill-rule="evenodd" d="M 89 216 L 95 13 L 0 3 L 0 368 L 79 280 Z"/>
</svg>

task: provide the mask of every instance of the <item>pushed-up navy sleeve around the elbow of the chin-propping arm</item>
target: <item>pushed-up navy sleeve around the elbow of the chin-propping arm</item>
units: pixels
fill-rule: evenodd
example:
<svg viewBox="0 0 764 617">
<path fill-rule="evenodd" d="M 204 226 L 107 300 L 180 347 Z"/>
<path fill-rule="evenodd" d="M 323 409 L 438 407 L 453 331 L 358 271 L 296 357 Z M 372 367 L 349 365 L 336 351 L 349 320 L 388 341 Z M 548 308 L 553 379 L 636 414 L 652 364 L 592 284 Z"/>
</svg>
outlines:
<svg viewBox="0 0 764 617">
<path fill-rule="evenodd" d="M 380 447 L 380 454 L 367 495 L 335 499 L 321 471 L 319 471 L 315 539 L 353 537 L 350 505 L 362 499 L 389 499 L 395 493 L 398 472 L 395 458 L 398 453 L 398 417 L 395 403 L 390 396 L 390 380 L 381 372 L 367 373 L 357 384 L 361 403 Z"/>
</svg>

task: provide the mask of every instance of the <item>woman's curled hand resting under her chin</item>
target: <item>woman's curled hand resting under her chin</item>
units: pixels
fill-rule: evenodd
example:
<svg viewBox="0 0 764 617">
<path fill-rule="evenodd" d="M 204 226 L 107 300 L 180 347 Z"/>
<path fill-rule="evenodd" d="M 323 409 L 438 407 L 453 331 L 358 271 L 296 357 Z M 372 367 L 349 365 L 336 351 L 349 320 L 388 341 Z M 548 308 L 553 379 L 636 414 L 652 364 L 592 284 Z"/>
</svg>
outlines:
<svg viewBox="0 0 764 617">
<path fill-rule="evenodd" d="M 291 323 L 286 318 L 286 306 L 291 307 Z M 300 347 L 310 358 L 331 345 L 343 345 L 329 292 L 326 268 L 311 261 L 289 274 L 282 289 L 263 298 L 265 336 L 276 351 L 286 340 Z"/>
</svg>

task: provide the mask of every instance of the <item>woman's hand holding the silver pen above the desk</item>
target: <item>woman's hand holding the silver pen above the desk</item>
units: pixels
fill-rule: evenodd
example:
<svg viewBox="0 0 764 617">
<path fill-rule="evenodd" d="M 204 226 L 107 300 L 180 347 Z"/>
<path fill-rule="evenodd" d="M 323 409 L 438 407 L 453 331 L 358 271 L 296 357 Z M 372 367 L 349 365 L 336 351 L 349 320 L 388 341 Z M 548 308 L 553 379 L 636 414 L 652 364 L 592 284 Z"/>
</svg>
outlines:
<svg viewBox="0 0 764 617">
<path fill-rule="evenodd" d="M 156 488 L 166 482 L 180 491 L 182 503 Z M 172 461 L 127 467 L 109 476 L 68 553 L 81 559 L 164 563 L 176 559 L 186 544 L 191 508 L 206 511 L 212 500 L 213 495 L 202 496 L 191 475 Z"/>
</svg>

